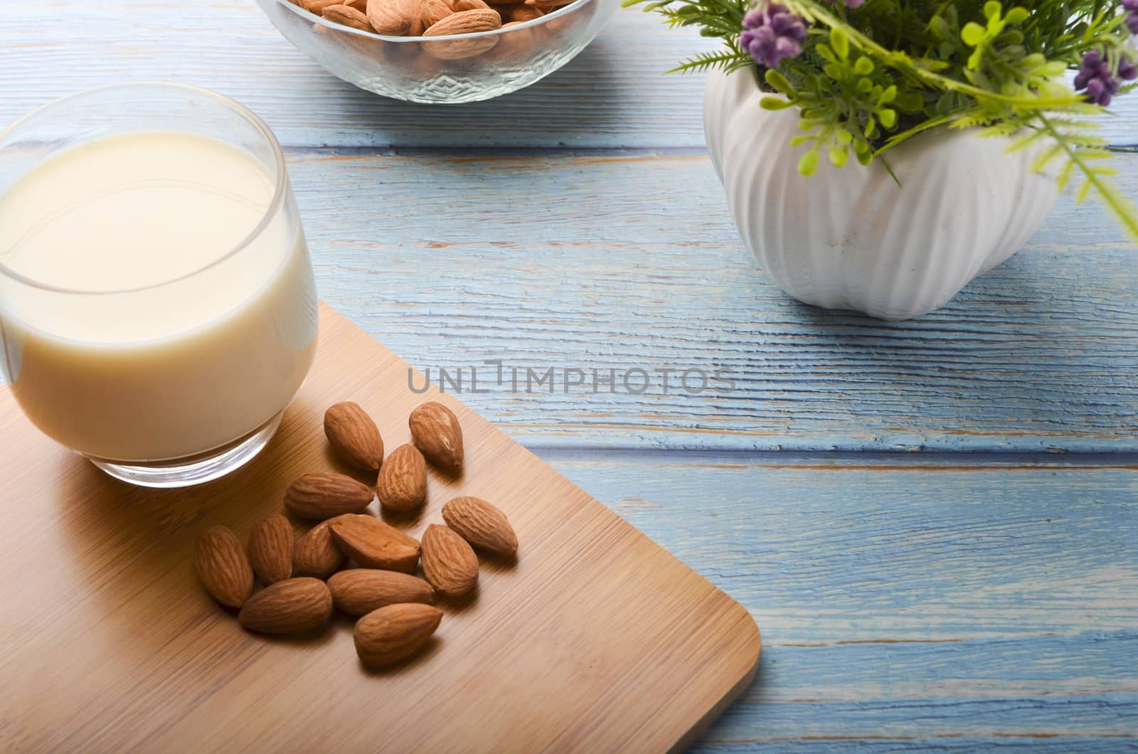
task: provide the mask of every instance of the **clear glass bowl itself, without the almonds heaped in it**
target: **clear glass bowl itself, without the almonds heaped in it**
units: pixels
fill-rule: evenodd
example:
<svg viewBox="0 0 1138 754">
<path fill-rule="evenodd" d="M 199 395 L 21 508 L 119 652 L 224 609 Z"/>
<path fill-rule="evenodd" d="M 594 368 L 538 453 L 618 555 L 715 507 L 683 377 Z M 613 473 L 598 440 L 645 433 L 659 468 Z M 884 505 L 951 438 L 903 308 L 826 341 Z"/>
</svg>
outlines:
<svg viewBox="0 0 1138 754">
<path fill-rule="evenodd" d="M 257 0 L 278 30 L 333 75 L 412 103 L 471 103 L 528 87 L 585 49 L 620 0 L 577 0 L 492 32 L 385 36 L 315 16 L 290 0 Z"/>
</svg>

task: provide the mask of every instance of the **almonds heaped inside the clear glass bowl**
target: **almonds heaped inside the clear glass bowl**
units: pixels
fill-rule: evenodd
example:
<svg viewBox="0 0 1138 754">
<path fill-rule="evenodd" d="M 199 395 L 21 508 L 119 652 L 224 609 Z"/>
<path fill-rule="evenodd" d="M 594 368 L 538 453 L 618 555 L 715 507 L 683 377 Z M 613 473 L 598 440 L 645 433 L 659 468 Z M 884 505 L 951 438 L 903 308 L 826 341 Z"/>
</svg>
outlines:
<svg viewBox="0 0 1138 754">
<path fill-rule="evenodd" d="M 447 36 L 517 26 L 574 0 L 292 0 L 330 22 L 388 36 Z M 471 40 L 475 42 L 477 40 Z M 489 43 L 493 47 L 493 41 Z"/>
</svg>

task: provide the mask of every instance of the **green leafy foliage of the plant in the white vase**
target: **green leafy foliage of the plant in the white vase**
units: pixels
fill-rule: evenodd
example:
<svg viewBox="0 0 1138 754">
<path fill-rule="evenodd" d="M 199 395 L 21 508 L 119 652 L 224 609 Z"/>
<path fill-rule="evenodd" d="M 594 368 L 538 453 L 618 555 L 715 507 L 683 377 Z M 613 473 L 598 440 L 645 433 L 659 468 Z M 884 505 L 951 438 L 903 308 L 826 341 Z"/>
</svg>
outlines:
<svg viewBox="0 0 1138 754">
<path fill-rule="evenodd" d="M 625 0 L 625 5 L 645 0 Z M 758 0 L 767 2 L 769 0 Z M 1094 192 L 1138 241 L 1138 211 L 1110 183 L 1108 153 L 1095 134 L 1091 105 L 1064 80 L 1089 50 L 1112 66 L 1138 62 L 1119 0 L 781 0 L 809 25 L 802 54 L 759 66 L 766 109 L 797 107 L 803 149 L 799 171 L 820 159 L 861 164 L 929 129 L 974 128 L 1041 149 L 1038 170 L 1061 185 L 1081 175 L 1080 200 Z M 653 0 L 675 26 L 696 26 L 725 47 L 677 69 L 753 67 L 739 46 L 748 0 Z M 1123 88 L 1119 96 L 1135 87 Z M 888 169 L 888 163 L 885 164 Z"/>
</svg>

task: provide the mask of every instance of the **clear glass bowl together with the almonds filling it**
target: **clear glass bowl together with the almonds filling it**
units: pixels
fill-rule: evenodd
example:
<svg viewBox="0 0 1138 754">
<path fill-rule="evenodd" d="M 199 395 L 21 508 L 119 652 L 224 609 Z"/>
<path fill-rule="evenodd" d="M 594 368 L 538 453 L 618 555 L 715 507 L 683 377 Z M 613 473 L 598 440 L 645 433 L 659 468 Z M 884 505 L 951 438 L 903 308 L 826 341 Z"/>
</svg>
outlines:
<svg viewBox="0 0 1138 754">
<path fill-rule="evenodd" d="M 619 0 L 257 0 L 333 75 L 413 103 L 517 91 L 593 41 Z"/>
</svg>

